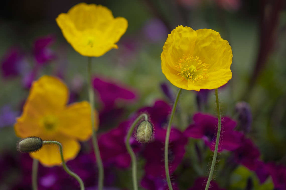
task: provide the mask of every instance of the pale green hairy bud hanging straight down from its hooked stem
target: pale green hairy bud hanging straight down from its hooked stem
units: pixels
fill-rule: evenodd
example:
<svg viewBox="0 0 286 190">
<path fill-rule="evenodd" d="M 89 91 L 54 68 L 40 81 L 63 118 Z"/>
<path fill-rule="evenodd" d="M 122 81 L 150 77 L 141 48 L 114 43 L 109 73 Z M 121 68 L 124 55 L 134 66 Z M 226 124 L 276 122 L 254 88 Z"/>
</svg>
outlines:
<svg viewBox="0 0 286 190">
<path fill-rule="evenodd" d="M 153 124 L 149 121 L 143 120 L 139 123 L 136 130 L 136 140 L 141 143 L 148 143 L 152 140 L 154 134 Z"/>
</svg>

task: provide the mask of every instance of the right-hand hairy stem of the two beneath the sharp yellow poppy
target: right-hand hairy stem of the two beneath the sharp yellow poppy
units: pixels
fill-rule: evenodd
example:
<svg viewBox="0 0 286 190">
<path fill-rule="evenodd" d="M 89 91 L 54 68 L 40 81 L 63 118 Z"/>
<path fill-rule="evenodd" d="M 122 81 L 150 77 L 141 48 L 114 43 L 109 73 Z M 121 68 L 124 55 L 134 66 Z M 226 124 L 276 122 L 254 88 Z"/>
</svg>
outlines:
<svg viewBox="0 0 286 190">
<path fill-rule="evenodd" d="M 215 100 L 217 102 L 217 117 L 218 117 L 217 139 L 215 141 L 214 157 L 212 159 L 212 166 L 210 167 L 210 175 L 208 176 L 208 182 L 206 183 L 206 189 L 205 190 L 208 190 L 208 187 L 210 186 L 210 181 L 212 180 L 212 174 L 214 173 L 215 162 L 217 160 L 217 150 L 219 147 L 219 137 L 221 135 L 221 109 L 219 107 L 219 96 L 218 96 L 217 90 L 218 89 L 215 89 Z"/>
</svg>

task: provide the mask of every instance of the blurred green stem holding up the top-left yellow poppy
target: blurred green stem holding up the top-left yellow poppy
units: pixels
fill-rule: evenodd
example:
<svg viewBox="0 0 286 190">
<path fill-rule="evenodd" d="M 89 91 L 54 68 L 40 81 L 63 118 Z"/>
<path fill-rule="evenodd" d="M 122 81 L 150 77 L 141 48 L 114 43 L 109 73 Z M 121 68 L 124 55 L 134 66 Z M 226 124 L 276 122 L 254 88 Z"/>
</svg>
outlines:
<svg viewBox="0 0 286 190">
<path fill-rule="evenodd" d="M 95 131 L 94 125 L 94 91 L 91 84 L 92 80 L 92 65 L 91 65 L 91 57 L 88 57 L 88 98 L 91 107 L 91 124 L 92 124 L 92 144 L 94 148 L 94 154 L 96 157 L 96 163 L 98 166 L 98 190 L 102 190 L 103 188 L 103 178 L 104 178 L 104 169 L 100 156 L 100 151 L 98 148 L 98 141 Z"/>
</svg>

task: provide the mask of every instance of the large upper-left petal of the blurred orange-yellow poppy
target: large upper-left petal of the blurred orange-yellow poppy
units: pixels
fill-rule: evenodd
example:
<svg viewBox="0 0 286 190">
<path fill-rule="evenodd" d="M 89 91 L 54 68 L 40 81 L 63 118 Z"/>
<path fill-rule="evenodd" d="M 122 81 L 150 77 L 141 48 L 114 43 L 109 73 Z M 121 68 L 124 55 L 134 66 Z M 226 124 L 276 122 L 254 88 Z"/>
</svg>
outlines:
<svg viewBox="0 0 286 190">
<path fill-rule="evenodd" d="M 67 99 L 68 89 L 59 79 L 43 76 L 33 82 L 23 113 L 14 126 L 16 135 L 21 138 L 37 136 L 42 130 L 39 127 L 39 120 L 45 115 L 57 115 L 63 111 Z"/>
</svg>

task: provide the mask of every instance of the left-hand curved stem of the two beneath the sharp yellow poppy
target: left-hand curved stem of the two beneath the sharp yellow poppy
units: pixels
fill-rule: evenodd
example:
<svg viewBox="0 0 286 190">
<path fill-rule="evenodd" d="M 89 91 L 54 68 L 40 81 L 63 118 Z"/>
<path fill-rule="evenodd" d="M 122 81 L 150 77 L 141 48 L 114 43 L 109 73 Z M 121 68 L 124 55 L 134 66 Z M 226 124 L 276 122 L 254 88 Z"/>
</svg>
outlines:
<svg viewBox="0 0 286 190">
<path fill-rule="evenodd" d="M 172 125 L 172 121 L 173 121 L 173 118 L 174 118 L 174 114 L 175 114 L 175 111 L 176 111 L 176 107 L 177 107 L 177 104 L 178 104 L 178 100 L 179 100 L 181 91 L 182 91 L 182 89 L 179 89 L 179 91 L 177 93 L 177 96 L 176 96 L 176 99 L 175 99 L 175 102 L 174 102 L 174 105 L 173 105 L 173 109 L 172 109 L 172 112 L 171 112 L 171 117 L 170 117 L 170 120 L 169 120 L 169 123 L 168 123 L 168 128 L 167 128 L 166 138 L 165 138 L 165 154 L 164 154 L 165 155 L 165 172 L 166 172 L 166 179 L 167 179 L 167 182 L 168 182 L 169 190 L 173 190 L 171 179 L 170 179 L 170 174 L 169 174 L 169 163 L 168 163 L 168 160 L 169 160 L 168 159 L 169 139 L 170 139 L 171 125 Z"/>
</svg>

